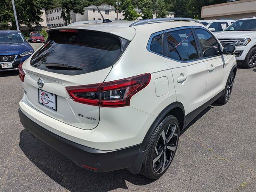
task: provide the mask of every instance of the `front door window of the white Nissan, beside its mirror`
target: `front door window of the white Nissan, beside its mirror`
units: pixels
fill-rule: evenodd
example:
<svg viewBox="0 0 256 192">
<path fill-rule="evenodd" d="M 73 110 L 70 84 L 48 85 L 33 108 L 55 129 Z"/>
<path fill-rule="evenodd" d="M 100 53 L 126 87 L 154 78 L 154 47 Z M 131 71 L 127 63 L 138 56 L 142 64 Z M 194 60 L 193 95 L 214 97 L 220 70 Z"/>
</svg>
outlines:
<svg viewBox="0 0 256 192">
<path fill-rule="evenodd" d="M 195 29 L 195 31 L 204 57 L 220 55 L 220 45 L 212 34 L 203 29 Z"/>
</svg>

